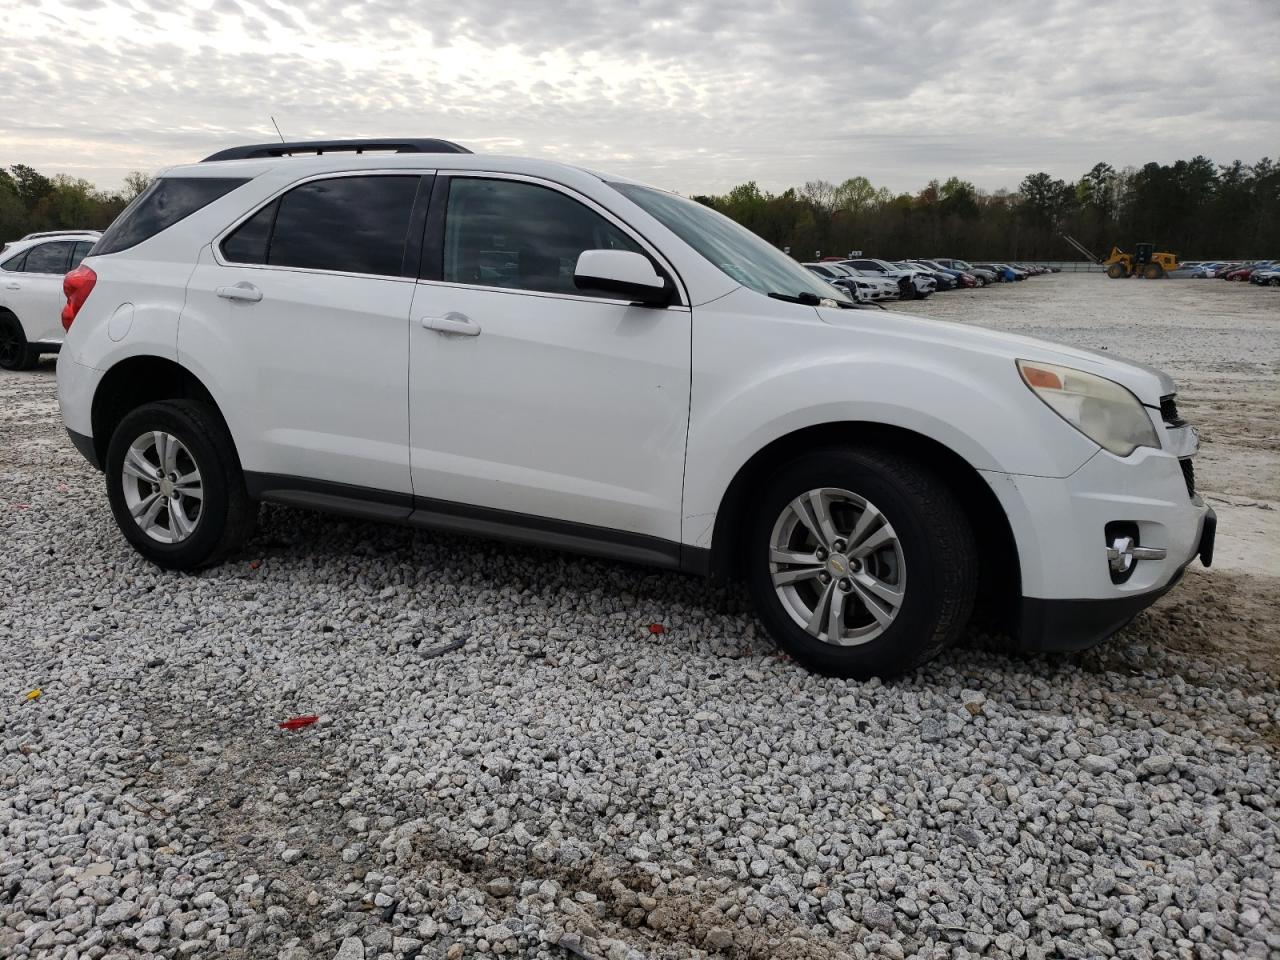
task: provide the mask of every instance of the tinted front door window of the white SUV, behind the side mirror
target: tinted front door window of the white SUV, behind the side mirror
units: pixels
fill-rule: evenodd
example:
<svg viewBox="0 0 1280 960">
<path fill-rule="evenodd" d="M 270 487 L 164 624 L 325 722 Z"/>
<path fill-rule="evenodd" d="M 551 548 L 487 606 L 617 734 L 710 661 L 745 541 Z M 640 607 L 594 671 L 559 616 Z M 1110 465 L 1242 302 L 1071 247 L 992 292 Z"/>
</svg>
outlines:
<svg viewBox="0 0 1280 960">
<path fill-rule="evenodd" d="M 449 184 L 445 282 L 593 294 L 573 283 L 584 250 L 644 252 L 617 227 L 559 191 L 476 178 L 454 178 Z"/>
</svg>

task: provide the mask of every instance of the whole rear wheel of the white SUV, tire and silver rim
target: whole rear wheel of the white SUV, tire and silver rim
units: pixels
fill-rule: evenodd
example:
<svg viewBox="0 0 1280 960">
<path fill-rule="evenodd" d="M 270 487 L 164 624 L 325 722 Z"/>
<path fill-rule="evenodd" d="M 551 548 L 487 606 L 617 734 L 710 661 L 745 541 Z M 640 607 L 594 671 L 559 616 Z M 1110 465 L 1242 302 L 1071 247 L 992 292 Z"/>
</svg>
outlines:
<svg viewBox="0 0 1280 960">
<path fill-rule="evenodd" d="M 169 438 L 165 452 L 173 452 L 177 442 L 172 474 L 196 476 L 195 481 L 151 480 L 165 462 L 157 433 Z M 141 479 L 140 461 L 131 448 L 145 461 L 141 468 L 147 480 Z M 134 465 L 128 477 L 125 457 Z M 257 511 L 244 489 L 239 457 L 223 419 L 206 403 L 161 401 L 128 413 L 111 435 L 105 471 L 106 494 L 120 532 L 157 567 L 192 571 L 211 566 L 252 532 Z M 170 493 L 174 499 L 168 499 Z M 134 520 L 140 507 L 145 508 L 142 520 Z M 182 509 L 182 521 L 175 518 L 175 509 Z M 142 526 L 147 517 L 154 524 L 150 532 Z"/>
</svg>

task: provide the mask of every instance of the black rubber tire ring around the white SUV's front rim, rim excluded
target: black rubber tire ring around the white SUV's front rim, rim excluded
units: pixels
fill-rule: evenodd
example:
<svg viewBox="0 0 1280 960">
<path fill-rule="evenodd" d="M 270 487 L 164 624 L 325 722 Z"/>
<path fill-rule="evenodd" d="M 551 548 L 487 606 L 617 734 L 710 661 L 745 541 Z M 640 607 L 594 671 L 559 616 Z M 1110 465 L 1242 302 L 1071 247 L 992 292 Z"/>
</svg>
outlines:
<svg viewBox="0 0 1280 960">
<path fill-rule="evenodd" d="M 906 596 L 897 617 L 874 640 L 836 646 L 797 625 L 778 599 L 769 575 L 769 538 L 782 509 L 800 494 L 820 486 L 865 498 L 892 525 L 906 566 Z M 928 659 L 937 646 L 942 593 L 937 576 L 934 531 L 922 511 L 892 480 L 855 453 L 832 451 L 792 461 L 764 485 L 748 525 L 746 580 L 765 627 L 805 667 L 832 676 L 892 676 Z"/>
</svg>

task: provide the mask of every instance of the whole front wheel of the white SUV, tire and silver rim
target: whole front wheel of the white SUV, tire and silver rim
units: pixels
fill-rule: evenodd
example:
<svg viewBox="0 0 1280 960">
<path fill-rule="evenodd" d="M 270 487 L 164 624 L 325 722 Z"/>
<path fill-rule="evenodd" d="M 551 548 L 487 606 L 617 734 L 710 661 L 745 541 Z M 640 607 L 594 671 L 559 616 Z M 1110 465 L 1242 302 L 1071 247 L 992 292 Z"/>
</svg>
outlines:
<svg viewBox="0 0 1280 960">
<path fill-rule="evenodd" d="M 822 561 L 814 492 L 829 520 L 824 539 L 832 549 Z M 878 449 L 814 451 L 774 471 L 750 509 L 748 588 L 777 645 L 804 667 L 836 677 L 892 677 L 936 657 L 968 623 L 978 588 L 977 541 L 955 495 L 915 461 Z M 882 543 L 859 554 L 831 532 Z M 841 602 L 840 644 L 827 640 L 833 626 L 827 596 Z M 814 628 L 805 627 L 806 618 Z"/>
</svg>

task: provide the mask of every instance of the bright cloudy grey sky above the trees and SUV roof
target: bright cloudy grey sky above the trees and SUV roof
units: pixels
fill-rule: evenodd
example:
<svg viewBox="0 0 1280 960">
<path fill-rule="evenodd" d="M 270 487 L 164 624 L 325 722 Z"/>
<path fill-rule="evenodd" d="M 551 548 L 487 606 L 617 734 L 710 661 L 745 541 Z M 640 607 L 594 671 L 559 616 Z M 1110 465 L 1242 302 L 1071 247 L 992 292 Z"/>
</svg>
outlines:
<svg viewBox="0 0 1280 960">
<path fill-rule="evenodd" d="M 684 193 L 1280 155 L 1280 0 L 4 0 L 0 165 L 434 136 Z M 1160 10 L 1158 15 L 1140 13 Z"/>
</svg>

